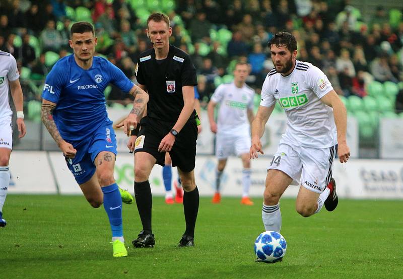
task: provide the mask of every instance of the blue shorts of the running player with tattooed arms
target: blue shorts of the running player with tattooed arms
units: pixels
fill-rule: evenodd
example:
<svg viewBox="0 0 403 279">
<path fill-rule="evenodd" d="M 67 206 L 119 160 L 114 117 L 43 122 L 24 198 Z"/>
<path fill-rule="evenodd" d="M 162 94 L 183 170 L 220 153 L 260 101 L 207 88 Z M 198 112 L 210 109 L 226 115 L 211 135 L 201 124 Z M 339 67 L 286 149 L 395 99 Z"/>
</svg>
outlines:
<svg viewBox="0 0 403 279">
<path fill-rule="evenodd" d="M 102 125 L 92 135 L 81 141 L 69 142 L 77 150 L 73 159 L 65 158 L 69 170 L 73 173 L 78 184 L 91 179 L 96 167 L 94 160 L 102 151 L 117 154 L 116 135 L 111 124 Z"/>
</svg>

